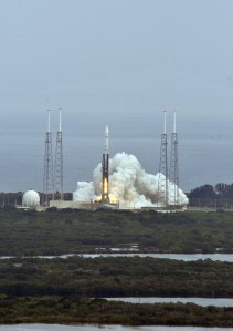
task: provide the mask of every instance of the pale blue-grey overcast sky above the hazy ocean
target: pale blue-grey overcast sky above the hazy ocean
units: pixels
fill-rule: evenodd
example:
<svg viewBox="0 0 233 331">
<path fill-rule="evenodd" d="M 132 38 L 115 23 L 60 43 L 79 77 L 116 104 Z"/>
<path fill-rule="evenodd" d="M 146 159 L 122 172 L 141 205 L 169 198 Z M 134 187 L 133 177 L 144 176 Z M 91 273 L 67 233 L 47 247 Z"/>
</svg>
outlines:
<svg viewBox="0 0 233 331">
<path fill-rule="evenodd" d="M 174 108 L 180 133 L 231 132 L 232 14 L 232 0 L 1 0 L 0 131 L 40 133 L 62 107 L 66 134 L 151 135 Z"/>
</svg>

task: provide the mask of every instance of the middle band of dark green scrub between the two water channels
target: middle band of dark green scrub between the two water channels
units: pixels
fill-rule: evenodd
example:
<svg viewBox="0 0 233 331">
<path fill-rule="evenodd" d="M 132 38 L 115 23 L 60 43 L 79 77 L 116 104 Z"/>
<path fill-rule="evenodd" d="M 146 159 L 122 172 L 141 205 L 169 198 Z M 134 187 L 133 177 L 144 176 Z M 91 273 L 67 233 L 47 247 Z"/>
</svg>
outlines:
<svg viewBox="0 0 233 331">
<path fill-rule="evenodd" d="M 7 296 L 233 297 L 233 263 L 155 258 L 0 260 Z"/>
</svg>

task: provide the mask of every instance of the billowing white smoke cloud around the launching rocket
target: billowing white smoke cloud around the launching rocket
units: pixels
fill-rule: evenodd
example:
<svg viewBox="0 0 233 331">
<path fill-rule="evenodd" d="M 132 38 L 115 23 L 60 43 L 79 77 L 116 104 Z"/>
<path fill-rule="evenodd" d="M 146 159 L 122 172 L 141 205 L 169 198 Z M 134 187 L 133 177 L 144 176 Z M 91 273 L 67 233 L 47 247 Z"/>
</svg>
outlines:
<svg viewBox="0 0 233 331">
<path fill-rule="evenodd" d="M 160 174 L 160 176 L 163 176 Z M 119 200 L 121 208 L 152 207 L 158 205 L 159 174 L 147 174 L 134 155 L 117 153 L 109 161 L 109 192 Z M 93 172 L 93 182 L 77 182 L 73 199 L 89 201 L 102 193 L 102 165 Z M 172 205 L 174 185 L 168 182 L 168 200 Z M 179 204 L 187 205 L 188 198 L 178 188 Z"/>
</svg>

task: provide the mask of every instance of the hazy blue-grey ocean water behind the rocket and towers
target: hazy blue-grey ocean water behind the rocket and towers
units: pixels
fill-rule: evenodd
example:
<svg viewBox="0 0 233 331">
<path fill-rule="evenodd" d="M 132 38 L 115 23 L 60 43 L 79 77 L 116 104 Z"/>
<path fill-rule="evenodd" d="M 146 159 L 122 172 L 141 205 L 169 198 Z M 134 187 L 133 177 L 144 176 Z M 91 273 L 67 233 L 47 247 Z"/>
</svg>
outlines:
<svg viewBox="0 0 233 331">
<path fill-rule="evenodd" d="M 42 190 L 45 134 L 2 133 L 0 137 L 0 192 Z M 65 192 L 74 192 L 76 182 L 92 180 L 93 169 L 102 161 L 103 151 L 104 137 L 63 134 Z M 134 154 L 147 173 L 158 173 L 159 138 L 112 137 L 110 155 L 121 152 Z M 179 138 L 180 188 L 189 192 L 203 184 L 233 183 L 232 152 L 231 138 Z"/>
</svg>

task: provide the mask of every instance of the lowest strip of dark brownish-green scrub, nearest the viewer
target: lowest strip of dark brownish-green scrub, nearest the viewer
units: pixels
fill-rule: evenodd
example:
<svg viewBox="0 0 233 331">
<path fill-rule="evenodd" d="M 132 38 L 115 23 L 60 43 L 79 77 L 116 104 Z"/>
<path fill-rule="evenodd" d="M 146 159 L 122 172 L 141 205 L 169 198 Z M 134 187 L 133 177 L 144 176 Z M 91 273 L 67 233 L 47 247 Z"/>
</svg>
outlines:
<svg viewBox="0 0 233 331">
<path fill-rule="evenodd" d="M 233 327 L 233 308 L 1 296 L 0 323 Z"/>
</svg>

